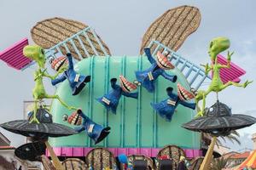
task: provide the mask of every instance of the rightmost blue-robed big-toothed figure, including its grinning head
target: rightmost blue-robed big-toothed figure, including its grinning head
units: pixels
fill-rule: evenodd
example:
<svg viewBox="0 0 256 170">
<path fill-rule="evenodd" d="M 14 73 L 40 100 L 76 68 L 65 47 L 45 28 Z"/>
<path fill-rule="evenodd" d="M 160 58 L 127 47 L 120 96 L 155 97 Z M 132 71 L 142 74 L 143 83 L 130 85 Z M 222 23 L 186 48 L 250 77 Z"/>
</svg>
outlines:
<svg viewBox="0 0 256 170">
<path fill-rule="evenodd" d="M 169 98 L 162 100 L 160 103 L 151 103 L 151 106 L 154 108 L 154 110 L 157 111 L 161 117 L 165 118 L 167 122 L 172 121 L 172 115 L 176 110 L 177 105 L 183 105 L 185 107 L 195 110 L 195 103 L 189 103 L 185 101 L 188 99 L 193 99 L 195 97 L 194 94 L 189 93 L 179 84 L 177 85 L 177 87 L 177 94 L 174 94 L 172 92 L 173 88 L 166 88 L 166 92 Z"/>
</svg>

